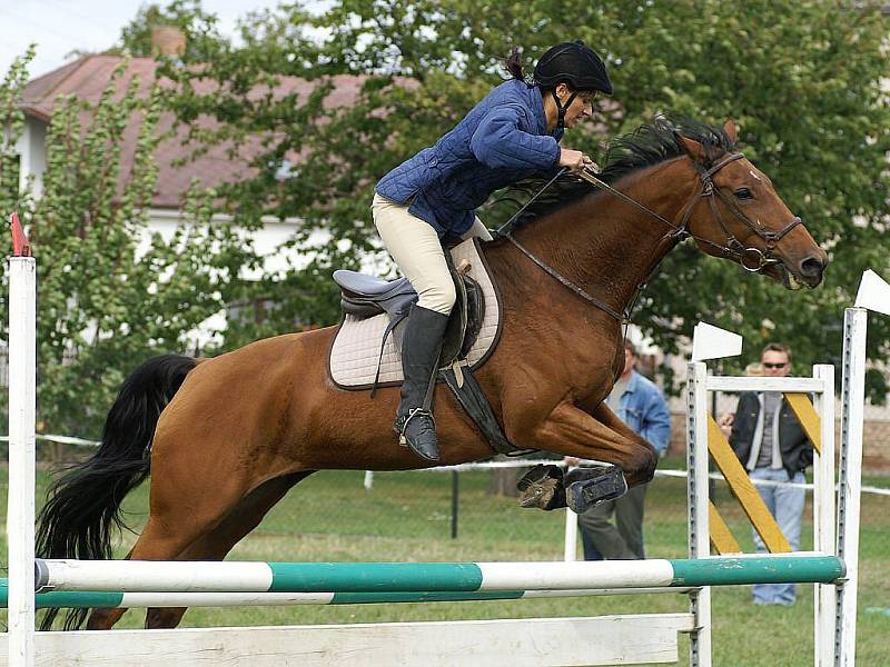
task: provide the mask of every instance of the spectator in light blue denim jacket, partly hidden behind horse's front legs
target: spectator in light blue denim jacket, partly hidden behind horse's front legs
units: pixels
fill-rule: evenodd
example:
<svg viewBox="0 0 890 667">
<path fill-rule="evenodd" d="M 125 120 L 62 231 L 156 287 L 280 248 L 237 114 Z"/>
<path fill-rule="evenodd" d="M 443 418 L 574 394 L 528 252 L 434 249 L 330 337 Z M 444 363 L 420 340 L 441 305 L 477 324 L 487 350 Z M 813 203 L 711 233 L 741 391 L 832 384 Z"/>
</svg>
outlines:
<svg viewBox="0 0 890 667">
<path fill-rule="evenodd" d="M 671 415 L 661 390 L 636 372 L 635 362 L 636 350 L 630 340 L 625 340 L 624 370 L 606 404 L 662 456 L 671 439 Z M 621 498 L 595 505 L 578 516 L 585 560 L 645 558 L 645 495 L 646 485 L 640 485 Z M 610 521 L 613 515 L 614 525 Z"/>
</svg>

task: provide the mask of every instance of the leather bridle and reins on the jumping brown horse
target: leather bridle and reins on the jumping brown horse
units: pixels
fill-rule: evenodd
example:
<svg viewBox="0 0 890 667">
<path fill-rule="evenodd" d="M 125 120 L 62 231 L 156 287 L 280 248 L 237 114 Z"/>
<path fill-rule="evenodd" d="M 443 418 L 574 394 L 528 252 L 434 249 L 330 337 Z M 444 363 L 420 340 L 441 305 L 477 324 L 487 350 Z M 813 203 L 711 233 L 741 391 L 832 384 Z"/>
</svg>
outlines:
<svg viewBox="0 0 890 667">
<path fill-rule="evenodd" d="M 744 215 L 744 212 L 739 210 L 739 208 L 729 199 L 729 197 L 726 197 L 723 192 L 721 192 L 720 188 L 718 188 L 714 185 L 714 181 L 713 181 L 714 175 L 718 173 L 721 169 L 723 169 L 723 167 L 725 167 L 730 162 L 734 162 L 735 160 L 740 160 L 744 156 L 742 153 L 740 153 L 740 152 L 729 153 L 723 159 L 721 159 L 718 163 L 713 165 L 710 168 L 705 168 L 704 166 L 699 165 L 698 162 L 695 162 L 693 160 L 693 166 L 695 168 L 695 171 L 699 173 L 699 186 L 695 188 L 695 190 L 693 191 L 692 196 L 689 198 L 686 203 L 681 209 L 681 213 L 678 216 L 678 218 L 680 218 L 680 222 L 679 223 L 674 222 L 672 220 L 669 220 L 668 218 L 665 218 L 661 213 L 657 213 L 657 212 L 653 211 L 652 209 L 650 209 L 646 206 L 640 203 L 639 201 L 636 201 L 632 197 L 629 197 L 627 195 L 625 195 L 621 190 L 616 190 L 615 188 L 610 186 L 607 182 L 605 182 L 604 180 L 602 180 L 600 177 L 597 177 L 595 173 L 593 173 L 591 171 L 583 170 L 577 176 L 580 178 L 582 178 L 583 180 L 587 181 L 589 183 L 594 185 L 594 186 L 596 186 L 597 188 L 600 188 L 602 190 L 606 190 L 606 191 L 611 192 L 612 195 L 615 195 L 620 199 L 623 199 L 627 203 L 634 206 L 635 208 L 640 209 L 641 211 L 643 211 L 643 212 L 647 213 L 649 216 L 655 218 L 656 220 L 663 222 L 666 227 L 670 228 L 670 231 L 664 237 L 662 237 L 659 240 L 659 242 L 655 245 L 655 249 L 653 250 L 653 255 L 655 252 L 659 252 L 665 243 L 668 243 L 668 248 L 665 250 L 665 252 L 666 252 L 666 251 L 670 251 L 680 241 L 682 241 L 682 240 L 684 240 L 686 238 L 693 238 L 699 243 L 703 243 L 705 246 L 710 246 L 712 248 L 715 248 L 719 252 L 722 253 L 723 257 L 726 257 L 729 259 L 738 260 L 739 265 L 744 270 L 750 271 L 752 273 L 759 273 L 759 272 L 763 271 L 764 269 L 767 269 L 770 266 L 781 263 L 780 259 L 777 259 L 777 258 L 772 257 L 773 250 L 775 249 L 775 245 L 779 241 L 781 241 L 788 235 L 788 232 L 790 232 L 798 225 L 800 225 L 801 223 L 801 219 L 798 218 L 798 217 L 792 218 L 791 221 L 789 221 L 788 225 L 785 225 L 779 231 L 764 230 L 760 222 L 752 221 L 748 216 Z M 553 177 L 544 186 L 544 188 L 542 188 L 534 197 L 532 197 L 528 200 L 528 202 L 526 202 L 526 205 L 524 207 L 522 207 L 518 211 L 516 211 L 516 213 L 505 225 L 503 225 L 497 230 L 496 233 L 497 233 L 498 237 L 506 238 L 521 252 L 523 252 L 523 255 L 525 255 L 526 257 L 528 257 L 528 259 L 531 259 L 533 262 L 535 262 L 541 269 L 543 269 L 544 271 L 550 273 L 553 278 L 555 278 L 556 280 L 562 282 L 565 287 L 567 287 L 568 289 L 571 289 L 572 291 L 574 291 L 575 293 L 581 296 L 584 300 L 593 303 L 594 306 L 600 308 L 600 310 L 603 310 L 604 312 L 606 312 L 610 316 L 612 316 L 614 319 L 616 319 L 619 321 L 619 323 L 629 323 L 631 321 L 631 319 L 630 319 L 631 308 L 633 307 L 633 303 L 636 301 L 636 297 L 631 299 L 631 307 L 629 307 L 623 313 L 619 312 L 617 310 L 615 310 L 614 308 L 612 308 L 607 303 L 604 303 L 602 300 L 600 300 L 600 299 L 593 297 L 592 295 L 587 293 L 586 290 L 584 290 L 583 288 L 578 287 L 574 282 L 572 282 L 571 280 L 568 280 L 567 278 L 562 276 L 553 267 L 551 267 L 547 263 L 545 263 L 544 261 L 542 261 L 540 258 L 537 258 L 534 253 L 532 253 L 527 248 L 522 246 L 513 237 L 513 233 L 512 233 L 513 232 L 513 223 L 518 218 L 520 213 L 522 213 L 557 178 L 560 178 L 561 176 L 565 175 L 566 171 L 567 171 L 567 168 L 561 169 L 560 172 L 555 177 Z M 720 200 L 723 202 L 723 205 L 730 210 L 730 212 L 733 216 L 735 216 L 735 218 L 741 220 L 745 225 L 745 227 L 748 227 L 751 231 L 753 231 L 758 237 L 763 239 L 763 243 L 764 243 L 764 249 L 763 250 L 761 250 L 760 248 L 754 248 L 752 246 L 745 246 L 738 238 L 735 238 L 735 235 L 733 235 L 729 230 L 729 228 L 726 227 L 726 223 L 723 220 L 723 216 L 720 213 L 720 209 L 716 206 L 715 198 L 720 198 Z M 715 242 L 713 242 L 713 241 L 711 241 L 709 239 L 704 239 L 702 237 L 699 237 L 699 236 L 692 233 L 692 231 L 689 228 L 689 222 L 690 222 L 690 219 L 692 218 L 692 213 L 694 212 L 695 207 L 699 205 L 699 202 L 702 199 L 708 199 L 708 201 L 709 201 L 709 203 L 711 206 L 711 212 L 712 212 L 712 216 L 713 216 L 714 220 L 720 226 L 720 229 L 723 231 L 723 233 L 726 235 L 726 241 L 722 246 L 720 243 L 715 243 Z M 507 229 L 507 231 L 503 232 L 502 230 L 504 230 L 505 228 Z M 642 289 L 645 287 L 645 283 L 649 281 L 649 278 L 650 277 L 646 277 L 646 280 L 644 280 L 637 287 L 637 290 L 636 290 L 637 296 L 639 296 L 640 291 L 642 291 Z"/>
</svg>

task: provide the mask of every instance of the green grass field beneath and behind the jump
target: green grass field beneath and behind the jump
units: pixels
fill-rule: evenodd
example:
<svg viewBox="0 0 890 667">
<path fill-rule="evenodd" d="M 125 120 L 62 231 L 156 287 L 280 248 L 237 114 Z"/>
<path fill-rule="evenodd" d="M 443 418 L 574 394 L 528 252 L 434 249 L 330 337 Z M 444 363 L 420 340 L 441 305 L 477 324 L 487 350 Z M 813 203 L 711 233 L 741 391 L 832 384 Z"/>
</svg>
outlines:
<svg viewBox="0 0 890 667">
<path fill-rule="evenodd" d="M 669 464 L 672 461 L 669 461 Z M 679 461 L 673 461 L 679 462 Z M 0 478 L 6 488 L 6 472 Z M 563 552 L 563 515 L 520 509 L 514 499 L 487 495 L 487 472 L 461 475 L 459 534 L 451 539 L 451 476 L 432 472 L 377 474 L 365 491 L 362 472 L 320 472 L 298 485 L 233 551 L 240 560 L 555 560 Z M 38 498 L 48 477 L 41 475 Z M 138 530 L 145 520 L 147 485 L 125 505 Z M 752 550 L 750 528 L 725 489 L 718 504 L 743 549 Z M 803 548 L 811 547 L 811 511 Z M 859 587 L 858 664 L 890 665 L 890 498 L 863 504 Z M 659 478 L 646 498 L 650 557 L 686 556 L 685 484 Z M 132 542 L 125 535 L 120 554 Z M 6 542 L 2 544 L 6 561 Z M 191 609 L 186 626 L 367 623 L 582 616 L 684 611 L 681 595 L 530 599 L 486 603 L 347 605 Z M 713 645 L 718 666 L 811 665 L 812 587 L 800 586 L 791 608 L 754 607 L 744 587 L 714 589 Z M 141 627 L 131 610 L 118 627 Z M 681 645 L 686 665 L 688 641 Z"/>
</svg>

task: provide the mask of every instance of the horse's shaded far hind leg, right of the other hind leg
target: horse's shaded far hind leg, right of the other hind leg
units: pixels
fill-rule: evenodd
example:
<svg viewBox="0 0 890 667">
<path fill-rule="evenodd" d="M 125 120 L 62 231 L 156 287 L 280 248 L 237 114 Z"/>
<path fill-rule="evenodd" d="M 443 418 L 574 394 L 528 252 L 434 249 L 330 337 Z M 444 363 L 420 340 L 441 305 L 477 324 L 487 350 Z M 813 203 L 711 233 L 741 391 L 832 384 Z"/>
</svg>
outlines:
<svg viewBox="0 0 890 667">
<path fill-rule="evenodd" d="M 231 548 L 256 528 L 263 517 L 297 482 L 314 470 L 270 479 L 250 491 L 222 521 L 205 532 L 179 556 L 179 560 L 222 560 Z M 186 607 L 152 607 L 146 613 L 146 628 L 175 628 Z"/>
</svg>

